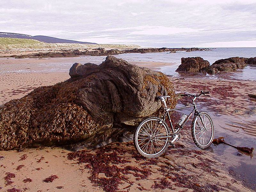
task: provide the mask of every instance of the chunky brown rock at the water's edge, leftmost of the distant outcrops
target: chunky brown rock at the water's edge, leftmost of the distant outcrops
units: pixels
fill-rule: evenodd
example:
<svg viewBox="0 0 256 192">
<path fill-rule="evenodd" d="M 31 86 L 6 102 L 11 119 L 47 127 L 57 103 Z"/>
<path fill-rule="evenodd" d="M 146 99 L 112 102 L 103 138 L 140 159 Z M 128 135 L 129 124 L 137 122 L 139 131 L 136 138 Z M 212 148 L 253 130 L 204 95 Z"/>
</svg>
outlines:
<svg viewBox="0 0 256 192">
<path fill-rule="evenodd" d="M 181 64 L 176 72 L 202 72 L 204 68 L 209 67 L 210 63 L 201 57 L 181 58 Z"/>
</svg>

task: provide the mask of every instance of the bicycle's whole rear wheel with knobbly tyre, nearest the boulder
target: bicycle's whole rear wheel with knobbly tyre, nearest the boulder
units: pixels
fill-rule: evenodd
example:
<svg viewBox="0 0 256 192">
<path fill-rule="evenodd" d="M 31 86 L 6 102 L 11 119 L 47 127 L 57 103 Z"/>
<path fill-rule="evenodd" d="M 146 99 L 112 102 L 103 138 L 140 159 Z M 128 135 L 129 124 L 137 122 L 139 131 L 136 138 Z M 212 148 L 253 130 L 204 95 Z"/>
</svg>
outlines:
<svg viewBox="0 0 256 192">
<path fill-rule="evenodd" d="M 162 119 L 150 117 L 137 127 L 133 141 L 137 151 L 145 157 L 157 157 L 164 153 L 169 144 L 169 128 Z"/>
</svg>

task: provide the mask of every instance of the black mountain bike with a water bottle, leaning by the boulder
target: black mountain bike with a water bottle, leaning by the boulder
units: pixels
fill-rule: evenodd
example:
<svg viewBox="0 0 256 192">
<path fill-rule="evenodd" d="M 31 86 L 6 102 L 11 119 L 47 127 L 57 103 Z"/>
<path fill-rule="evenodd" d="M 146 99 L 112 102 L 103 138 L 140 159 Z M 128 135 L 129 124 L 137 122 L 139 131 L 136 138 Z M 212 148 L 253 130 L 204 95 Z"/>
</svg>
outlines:
<svg viewBox="0 0 256 192">
<path fill-rule="evenodd" d="M 210 93 L 209 91 L 203 92 L 199 95 L 193 94 L 182 94 L 181 96 L 186 97 L 194 97 L 192 99 L 192 105 L 170 109 L 167 107 L 165 100 L 169 98 L 169 95 L 166 96 L 156 96 L 157 100 L 161 100 L 164 103 L 164 116 L 162 118 L 159 117 L 149 117 L 142 121 L 140 125 L 137 127 L 133 134 L 133 142 L 137 151 L 145 157 L 157 157 L 164 153 L 167 149 L 169 143 L 172 143 L 176 140 L 180 139 L 180 130 L 187 123 L 188 119 L 194 113 L 194 118 L 191 126 L 191 134 L 194 140 L 194 143 L 198 148 L 206 149 L 212 144 L 213 136 L 214 136 L 214 126 L 210 115 L 207 112 L 199 112 L 196 107 L 196 99 L 200 95 L 206 95 Z M 179 109 L 190 108 L 194 109 L 187 116 L 183 114 L 183 116 L 177 122 L 177 129 L 174 130 L 172 121 L 169 115 L 169 111 L 176 111 Z M 171 131 L 168 125 L 165 123 L 165 117 L 168 117 Z M 175 127 L 176 128 L 176 127 Z"/>
</svg>

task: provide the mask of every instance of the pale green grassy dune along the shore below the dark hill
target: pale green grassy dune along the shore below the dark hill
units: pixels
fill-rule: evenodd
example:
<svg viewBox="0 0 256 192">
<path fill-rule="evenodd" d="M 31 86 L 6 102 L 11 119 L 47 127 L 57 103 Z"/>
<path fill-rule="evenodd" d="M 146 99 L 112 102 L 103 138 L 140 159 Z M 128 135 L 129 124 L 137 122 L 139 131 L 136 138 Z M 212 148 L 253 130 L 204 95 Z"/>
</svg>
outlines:
<svg viewBox="0 0 256 192">
<path fill-rule="evenodd" d="M 125 45 L 125 44 L 71 44 L 71 43 L 44 43 L 34 39 L 19 39 L 0 37 L 0 49 L 17 49 L 17 48 L 30 48 L 30 49 L 44 49 L 44 48 L 132 48 L 140 47 L 139 45 Z"/>
</svg>

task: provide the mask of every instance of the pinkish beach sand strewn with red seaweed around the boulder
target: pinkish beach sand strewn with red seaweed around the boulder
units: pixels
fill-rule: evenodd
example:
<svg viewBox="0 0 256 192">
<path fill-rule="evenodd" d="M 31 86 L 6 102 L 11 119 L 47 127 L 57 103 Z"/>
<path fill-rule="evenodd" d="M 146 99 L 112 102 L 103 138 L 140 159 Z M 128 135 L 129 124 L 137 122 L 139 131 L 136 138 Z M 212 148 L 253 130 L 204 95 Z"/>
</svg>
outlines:
<svg viewBox="0 0 256 192">
<path fill-rule="evenodd" d="M 62 62 L 60 58 L 0 60 L 0 105 L 11 99 L 20 98 L 38 86 L 52 85 L 69 78 L 68 72 L 63 68 L 63 72 L 56 72 L 49 71 L 53 68 L 52 65 L 42 65 L 47 62 Z M 70 62 L 71 66 L 77 61 L 85 63 L 83 58 L 69 58 L 65 61 Z M 159 68 L 164 65 L 172 64 L 140 63 L 142 67 Z M 30 71 L 4 72 L 7 69 Z M 40 70 L 35 72 L 36 69 Z M 202 97 L 198 107 L 211 114 L 215 124 L 215 138 L 228 136 L 225 140 L 229 143 L 256 148 L 256 116 L 255 109 L 252 108 L 255 107 L 256 101 L 248 97 L 248 93 L 255 93 L 255 81 L 199 77 L 170 79 L 176 92 L 211 91 L 211 97 Z M 178 106 L 188 101 L 180 99 Z M 255 191 L 255 152 L 247 156 L 224 145 L 201 150 L 193 143 L 190 124 L 191 121 L 181 131 L 176 148 L 169 147 L 164 156 L 154 160 L 139 156 L 132 141 L 112 143 L 94 150 L 85 149 L 86 151 L 80 152 L 80 155 L 91 154 L 94 162 L 88 160 L 81 164 L 77 158 L 68 159 L 68 153 L 71 151 L 60 147 L 24 149 L 20 152 L 0 151 L 0 191 L 12 188 L 20 191 L 81 192 L 104 191 L 105 188 L 105 191 L 108 191 L 106 185 L 100 185 L 103 181 L 114 182 L 110 187 L 112 186 L 115 191 L 113 186 L 118 182 L 116 178 L 121 182 L 117 184 L 118 191 Z M 96 153 L 103 155 L 97 156 Z M 117 163 L 112 157 L 118 157 L 120 162 Z M 92 166 L 95 162 L 99 162 L 98 167 L 102 166 L 104 169 L 97 172 L 98 168 Z M 120 169 L 126 170 L 126 173 L 120 172 Z M 109 172 L 116 173 L 115 177 L 109 176 Z M 6 185 L 8 173 L 15 174 L 15 177 L 9 179 L 13 181 L 10 185 Z M 52 175 L 58 178 L 49 183 L 43 181 Z M 28 178 L 32 181 L 24 183 Z"/>
</svg>

